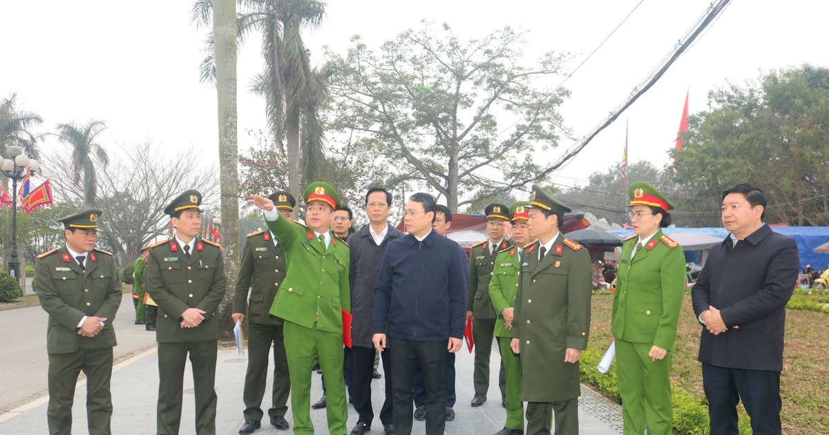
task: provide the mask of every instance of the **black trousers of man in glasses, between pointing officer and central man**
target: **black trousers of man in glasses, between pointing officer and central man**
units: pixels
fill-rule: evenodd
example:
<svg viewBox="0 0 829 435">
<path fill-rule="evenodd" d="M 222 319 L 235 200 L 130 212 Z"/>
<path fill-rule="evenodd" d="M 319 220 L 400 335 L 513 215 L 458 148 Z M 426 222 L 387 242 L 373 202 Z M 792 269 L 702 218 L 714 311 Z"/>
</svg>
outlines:
<svg viewBox="0 0 829 435">
<path fill-rule="evenodd" d="M 383 360 L 383 371 L 385 372 L 385 399 L 380 409 L 380 422 L 383 425 L 391 424 L 391 348 L 386 347 L 381 353 Z M 351 397 L 354 398 L 354 409 L 357 412 L 357 421 L 365 422 L 371 426 L 374 420 L 374 409 L 371 408 L 371 375 L 374 373 L 374 355 L 377 351 L 373 347 L 353 346 L 351 356 L 353 357 L 354 384 Z"/>
</svg>

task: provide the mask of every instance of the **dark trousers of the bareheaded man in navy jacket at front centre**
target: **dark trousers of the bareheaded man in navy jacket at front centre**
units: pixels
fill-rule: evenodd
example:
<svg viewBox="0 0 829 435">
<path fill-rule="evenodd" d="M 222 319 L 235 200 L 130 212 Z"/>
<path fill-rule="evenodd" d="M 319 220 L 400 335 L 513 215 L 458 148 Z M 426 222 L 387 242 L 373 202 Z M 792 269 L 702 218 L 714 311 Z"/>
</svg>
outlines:
<svg viewBox="0 0 829 435">
<path fill-rule="evenodd" d="M 392 391 L 394 405 L 392 420 L 397 435 L 412 432 L 412 389 L 414 370 L 423 371 L 426 389 L 426 435 L 443 435 L 446 424 L 446 383 L 444 366 L 448 340 L 410 341 L 389 337 L 391 353 L 391 376 L 394 380 Z"/>
</svg>

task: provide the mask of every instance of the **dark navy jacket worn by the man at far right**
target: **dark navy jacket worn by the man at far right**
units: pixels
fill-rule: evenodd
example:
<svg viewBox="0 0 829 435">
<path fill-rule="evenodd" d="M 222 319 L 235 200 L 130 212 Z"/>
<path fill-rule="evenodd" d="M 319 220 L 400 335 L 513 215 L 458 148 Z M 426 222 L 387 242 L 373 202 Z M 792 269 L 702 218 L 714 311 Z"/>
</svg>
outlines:
<svg viewBox="0 0 829 435">
<path fill-rule="evenodd" d="M 713 306 L 729 328 L 719 336 L 702 329 L 699 360 L 731 369 L 782 371 L 786 303 L 800 266 L 797 244 L 768 225 L 732 243 L 729 234 L 711 248 L 691 289 L 696 317 Z"/>
</svg>

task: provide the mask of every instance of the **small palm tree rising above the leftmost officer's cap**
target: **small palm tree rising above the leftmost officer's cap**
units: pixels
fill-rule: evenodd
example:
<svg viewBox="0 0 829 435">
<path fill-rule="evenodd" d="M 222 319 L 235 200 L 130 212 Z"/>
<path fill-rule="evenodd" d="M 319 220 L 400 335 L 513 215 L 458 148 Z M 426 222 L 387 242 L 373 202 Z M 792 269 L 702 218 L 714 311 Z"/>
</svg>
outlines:
<svg viewBox="0 0 829 435">
<path fill-rule="evenodd" d="M 98 162 L 101 169 L 106 169 L 109 164 L 106 150 L 95 142 L 104 128 L 106 128 L 106 123 L 95 119 L 81 126 L 75 123 L 57 124 L 58 139 L 72 148 L 72 176 L 75 185 L 83 190 L 86 207 L 95 204 L 95 194 L 98 190 L 95 162 Z"/>
</svg>

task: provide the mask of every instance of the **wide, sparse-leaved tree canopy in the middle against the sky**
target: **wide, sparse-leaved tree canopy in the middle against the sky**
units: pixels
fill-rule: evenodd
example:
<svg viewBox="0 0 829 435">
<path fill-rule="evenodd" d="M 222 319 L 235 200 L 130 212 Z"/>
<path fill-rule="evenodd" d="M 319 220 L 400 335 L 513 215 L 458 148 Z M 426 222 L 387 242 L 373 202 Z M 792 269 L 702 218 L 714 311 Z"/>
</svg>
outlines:
<svg viewBox="0 0 829 435">
<path fill-rule="evenodd" d="M 521 65 L 525 33 L 510 27 L 463 41 L 424 22 L 379 52 L 352 43 L 346 56 L 327 53 L 338 132 L 371 143 L 451 210 L 545 177 L 533 157 L 565 132 L 556 108 L 568 93 L 537 84 L 560 72 L 562 56 Z"/>
</svg>

